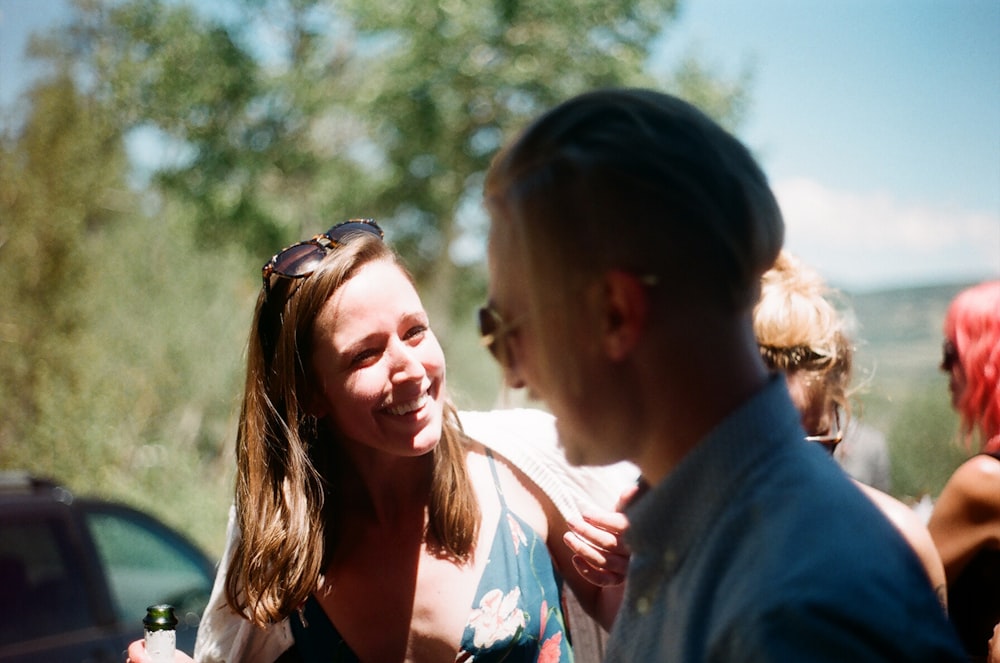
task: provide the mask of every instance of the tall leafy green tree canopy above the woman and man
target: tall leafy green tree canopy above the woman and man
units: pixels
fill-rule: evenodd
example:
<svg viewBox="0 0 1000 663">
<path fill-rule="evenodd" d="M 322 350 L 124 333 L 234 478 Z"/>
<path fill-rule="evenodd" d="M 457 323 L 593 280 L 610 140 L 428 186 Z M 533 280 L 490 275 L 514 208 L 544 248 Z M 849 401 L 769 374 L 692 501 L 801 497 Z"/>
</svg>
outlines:
<svg viewBox="0 0 1000 663">
<path fill-rule="evenodd" d="M 47 54 L 85 68 L 124 128 L 183 146 L 189 158 L 156 181 L 194 203 L 206 240 L 263 255 L 306 228 L 378 216 L 447 314 L 439 324 L 481 295 L 468 247 L 483 243 L 482 173 L 529 117 L 610 85 L 701 91 L 728 120 L 744 103 L 738 81 L 691 60 L 669 80 L 648 73 L 673 2 L 234 0 L 212 18 L 77 1 L 82 20 Z"/>
</svg>

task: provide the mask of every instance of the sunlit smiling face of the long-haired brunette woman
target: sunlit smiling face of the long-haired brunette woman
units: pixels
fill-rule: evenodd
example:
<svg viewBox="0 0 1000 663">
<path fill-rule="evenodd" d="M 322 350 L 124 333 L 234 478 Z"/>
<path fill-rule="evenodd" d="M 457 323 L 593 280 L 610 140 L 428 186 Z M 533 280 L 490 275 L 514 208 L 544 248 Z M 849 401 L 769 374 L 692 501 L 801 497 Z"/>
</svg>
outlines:
<svg viewBox="0 0 1000 663">
<path fill-rule="evenodd" d="M 317 416 L 358 444 L 419 456 L 441 438 L 445 361 L 413 284 L 388 261 L 363 266 L 313 328 Z"/>
</svg>

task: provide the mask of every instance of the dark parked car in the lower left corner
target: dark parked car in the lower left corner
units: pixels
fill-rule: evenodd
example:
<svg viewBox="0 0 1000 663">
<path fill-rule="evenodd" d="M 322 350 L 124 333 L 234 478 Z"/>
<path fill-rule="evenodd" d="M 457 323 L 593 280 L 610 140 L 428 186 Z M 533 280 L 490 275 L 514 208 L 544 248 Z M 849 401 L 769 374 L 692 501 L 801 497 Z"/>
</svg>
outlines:
<svg viewBox="0 0 1000 663">
<path fill-rule="evenodd" d="M 155 518 L 0 473 L 0 662 L 124 660 L 146 607 L 175 607 L 186 652 L 214 564 Z"/>
</svg>

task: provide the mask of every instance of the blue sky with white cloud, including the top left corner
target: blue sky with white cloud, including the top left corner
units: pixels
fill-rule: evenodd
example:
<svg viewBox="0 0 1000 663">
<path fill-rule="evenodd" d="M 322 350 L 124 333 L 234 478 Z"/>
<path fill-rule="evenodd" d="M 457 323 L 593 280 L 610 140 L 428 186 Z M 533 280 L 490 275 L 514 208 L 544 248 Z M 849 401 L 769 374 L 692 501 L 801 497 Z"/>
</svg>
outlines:
<svg viewBox="0 0 1000 663">
<path fill-rule="evenodd" d="M 0 0 L 0 104 L 65 0 Z M 788 247 L 852 291 L 1000 278 L 1000 0 L 689 0 L 654 64 L 753 72 Z"/>
</svg>

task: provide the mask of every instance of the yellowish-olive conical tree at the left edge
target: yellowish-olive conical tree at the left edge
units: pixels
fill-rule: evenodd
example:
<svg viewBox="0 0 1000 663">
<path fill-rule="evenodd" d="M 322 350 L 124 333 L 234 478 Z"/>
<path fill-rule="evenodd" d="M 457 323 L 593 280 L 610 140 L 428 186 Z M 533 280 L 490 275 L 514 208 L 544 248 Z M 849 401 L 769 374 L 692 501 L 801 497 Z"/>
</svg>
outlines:
<svg viewBox="0 0 1000 663">
<path fill-rule="evenodd" d="M 100 315 L 86 245 L 130 199 L 121 134 L 66 71 L 35 88 L 30 105 L 18 139 L 0 145 L 0 278 L 10 293 L 0 307 L 0 460 L 27 422 L 85 379 L 77 342 Z"/>
</svg>

